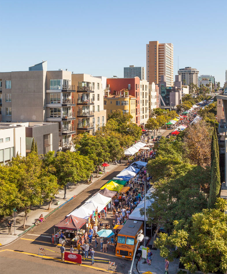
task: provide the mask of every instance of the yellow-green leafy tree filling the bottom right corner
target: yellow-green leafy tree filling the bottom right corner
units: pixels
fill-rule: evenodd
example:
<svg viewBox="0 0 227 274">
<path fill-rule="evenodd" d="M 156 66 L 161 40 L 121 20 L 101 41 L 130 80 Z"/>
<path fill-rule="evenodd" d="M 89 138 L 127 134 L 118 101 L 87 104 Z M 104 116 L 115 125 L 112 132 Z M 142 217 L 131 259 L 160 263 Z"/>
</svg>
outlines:
<svg viewBox="0 0 227 274">
<path fill-rule="evenodd" d="M 214 209 L 203 209 L 191 217 L 189 224 L 174 222 L 168 236 L 160 234 L 155 246 L 162 257 L 176 257 L 171 250 L 177 246 L 180 261 L 192 273 L 227 271 L 227 210 L 226 200 L 217 198 Z"/>
</svg>

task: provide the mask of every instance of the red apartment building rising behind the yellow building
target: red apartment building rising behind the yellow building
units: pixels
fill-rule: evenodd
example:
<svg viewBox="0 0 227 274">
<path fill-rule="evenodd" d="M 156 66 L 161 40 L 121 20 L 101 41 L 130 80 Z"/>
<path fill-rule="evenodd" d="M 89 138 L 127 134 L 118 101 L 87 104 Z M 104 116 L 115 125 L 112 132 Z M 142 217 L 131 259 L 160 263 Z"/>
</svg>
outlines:
<svg viewBox="0 0 227 274">
<path fill-rule="evenodd" d="M 127 89 L 129 95 L 135 97 L 135 123 L 140 125 L 140 79 L 134 78 L 107 78 L 107 87 L 110 95 L 117 95 L 122 89 Z"/>
</svg>

